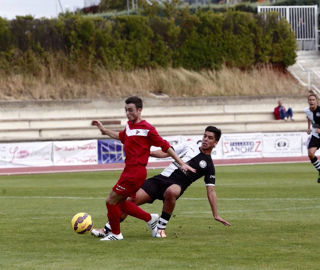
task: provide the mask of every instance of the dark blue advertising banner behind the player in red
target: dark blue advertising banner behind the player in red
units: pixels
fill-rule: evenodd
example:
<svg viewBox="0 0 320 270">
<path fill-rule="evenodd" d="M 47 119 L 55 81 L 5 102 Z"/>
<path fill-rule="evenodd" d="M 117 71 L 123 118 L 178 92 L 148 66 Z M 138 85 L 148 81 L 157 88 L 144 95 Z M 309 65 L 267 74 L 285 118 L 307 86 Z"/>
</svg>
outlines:
<svg viewBox="0 0 320 270">
<path fill-rule="evenodd" d="M 124 145 L 119 140 L 98 140 L 98 163 L 124 162 Z"/>
</svg>

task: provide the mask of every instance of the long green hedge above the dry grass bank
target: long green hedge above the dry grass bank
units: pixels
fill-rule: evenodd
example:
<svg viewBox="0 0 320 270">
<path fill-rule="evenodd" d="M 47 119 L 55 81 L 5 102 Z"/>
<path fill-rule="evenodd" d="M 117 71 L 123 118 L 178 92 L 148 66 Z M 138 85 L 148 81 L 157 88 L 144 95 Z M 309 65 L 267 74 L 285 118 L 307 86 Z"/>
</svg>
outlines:
<svg viewBox="0 0 320 270">
<path fill-rule="evenodd" d="M 111 20 L 68 13 L 59 19 L 0 18 L 2 71 L 37 75 L 64 59 L 61 69 L 183 67 L 216 69 L 223 63 L 292 65 L 296 40 L 285 20 L 269 14 L 181 12 L 175 18 L 118 16 Z"/>
</svg>

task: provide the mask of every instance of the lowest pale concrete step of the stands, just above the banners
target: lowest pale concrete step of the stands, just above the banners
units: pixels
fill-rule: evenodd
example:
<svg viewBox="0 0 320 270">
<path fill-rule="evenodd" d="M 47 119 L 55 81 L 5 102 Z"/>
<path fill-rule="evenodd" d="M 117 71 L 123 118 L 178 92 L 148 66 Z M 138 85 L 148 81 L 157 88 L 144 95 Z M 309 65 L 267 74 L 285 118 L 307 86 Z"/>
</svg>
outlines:
<svg viewBox="0 0 320 270">
<path fill-rule="evenodd" d="M 191 135 L 202 134 L 208 125 L 216 125 L 223 133 L 243 133 L 243 132 L 279 132 L 279 131 L 306 131 L 306 120 L 284 121 L 273 120 L 264 122 L 234 122 L 234 123 L 208 123 L 197 122 L 193 124 L 156 124 L 155 127 L 160 135 Z M 123 131 L 122 126 L 113 126 L 114 131 Z M 78 128 L 46 128 L 42 130 L 0 130 L 2 142 L 9 141 L 43 141 L 43 140 L 70 140 L 70 139 L 110 139 L 108 136 L 101 135 L 95 127 Z"/>
</svg>

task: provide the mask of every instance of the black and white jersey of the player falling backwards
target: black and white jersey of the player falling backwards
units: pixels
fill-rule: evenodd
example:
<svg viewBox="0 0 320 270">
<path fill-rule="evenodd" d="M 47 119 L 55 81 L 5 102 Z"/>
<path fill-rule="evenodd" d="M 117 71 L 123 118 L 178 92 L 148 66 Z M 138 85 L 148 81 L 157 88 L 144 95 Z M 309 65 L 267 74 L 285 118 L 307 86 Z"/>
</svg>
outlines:
<svg viewBox="0 0 320 270">
<path fill-rule="evenodd" d="M 196 169 L 196 172 L 184 171 L 176 161 L 173 161 L 161 172 L 161 175 L 174 180 L 184 189 L 203 176 L 206 186 L 215 185 L 216 176 L 211 155 L 202 153 L 199 145 L 194 141 L 183 142 L 174 146 L 173 149 L 182 161 Z"/>
</svg>

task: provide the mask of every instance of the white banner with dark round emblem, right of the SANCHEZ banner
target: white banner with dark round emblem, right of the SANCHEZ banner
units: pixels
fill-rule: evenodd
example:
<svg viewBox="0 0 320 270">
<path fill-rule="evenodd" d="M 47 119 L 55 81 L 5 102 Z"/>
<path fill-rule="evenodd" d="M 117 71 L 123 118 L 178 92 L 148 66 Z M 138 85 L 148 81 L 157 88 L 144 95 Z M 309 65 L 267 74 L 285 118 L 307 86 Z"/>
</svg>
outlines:
<svg viewBox="0 0 320 270">
<path fill-rule="evenodd" d="M 301 156 L 301 132 L 263 133 L 263 157 Z"/>
</svg>

